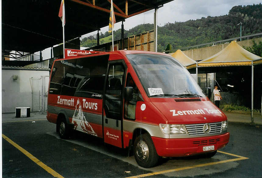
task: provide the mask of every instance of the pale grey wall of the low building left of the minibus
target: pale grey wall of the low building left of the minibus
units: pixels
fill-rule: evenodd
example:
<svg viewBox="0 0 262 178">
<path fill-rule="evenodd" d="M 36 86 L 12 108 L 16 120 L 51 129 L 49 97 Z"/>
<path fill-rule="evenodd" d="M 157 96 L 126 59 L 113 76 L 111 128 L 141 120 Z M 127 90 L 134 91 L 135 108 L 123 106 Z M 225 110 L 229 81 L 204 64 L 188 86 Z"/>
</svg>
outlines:
<svg viewBox="0 0 262 178">
<path fill-rule="evenodd" d="M 18 79 L 13 80 L 13 75 L 17 75 Z M 49 71 L 2 69 L 2 113 L 15 112 L 16 107 L 30 107 L 32 111 L 30 78 L 37 79 L 41 76 L 49 76 Z M 48 80 L 45 82 L 47 87 L 48 82 Z M 42 91 L 42 85 L 34 85 L 34 89 L 35 91 Z M 35 93 L 39 94 L 39 92 Z M 37 101 L 39 101 L 38 98 Z"/>
</svg>

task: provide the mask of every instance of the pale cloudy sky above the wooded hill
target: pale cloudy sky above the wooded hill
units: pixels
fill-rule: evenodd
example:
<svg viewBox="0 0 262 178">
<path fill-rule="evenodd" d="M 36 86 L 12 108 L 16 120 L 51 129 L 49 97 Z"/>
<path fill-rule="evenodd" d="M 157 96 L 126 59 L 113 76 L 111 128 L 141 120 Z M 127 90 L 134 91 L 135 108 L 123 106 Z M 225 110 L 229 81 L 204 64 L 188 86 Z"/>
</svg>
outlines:
<svg viewBox="0 0 262 178">
<path fill-rule="evenodd" d="M 260 2 L 262 3 L 261 0 L 174 0 L 158 9 L 158 26 L 164 26 L 168 22 L 185 22 L 207 16 L 226 15 L 235 5 L 253 5 Z M 115 18 L 117 20 L 117 16 Z M 126 19 L 124 29 L 129 30 L 144 23 L 154 23 L 154 9 Z M 116 23 L 114 30 L 120 29 L 121 24 L 122 22 Z M 107 30 L 108 26 L 101 28 L 100 32 L 105 33 Z M 97 34 L 97 31 L 83 35 L 81 39 L 94 34 Z"/>
</svg>

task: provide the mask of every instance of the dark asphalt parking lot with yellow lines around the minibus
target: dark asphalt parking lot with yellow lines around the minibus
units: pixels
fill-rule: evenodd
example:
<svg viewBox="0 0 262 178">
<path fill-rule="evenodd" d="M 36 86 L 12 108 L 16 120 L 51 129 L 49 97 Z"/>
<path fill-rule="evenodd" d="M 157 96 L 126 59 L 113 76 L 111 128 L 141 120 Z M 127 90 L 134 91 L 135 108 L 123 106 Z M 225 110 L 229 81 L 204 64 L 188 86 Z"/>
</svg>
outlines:
<svg viewBox="0 0 262 178">
<path fill-rule="evenodd" d="M 12 116 L 12 115 L 10 115 Z M 229 122 L 230 140 L 212 158 L 161 159 L 145 169 L 127 151 L 74 132 L 62 140 L 45 115 L 2 120 L 3 177 L 261 177 L 262 126 Z"/>
</svg>

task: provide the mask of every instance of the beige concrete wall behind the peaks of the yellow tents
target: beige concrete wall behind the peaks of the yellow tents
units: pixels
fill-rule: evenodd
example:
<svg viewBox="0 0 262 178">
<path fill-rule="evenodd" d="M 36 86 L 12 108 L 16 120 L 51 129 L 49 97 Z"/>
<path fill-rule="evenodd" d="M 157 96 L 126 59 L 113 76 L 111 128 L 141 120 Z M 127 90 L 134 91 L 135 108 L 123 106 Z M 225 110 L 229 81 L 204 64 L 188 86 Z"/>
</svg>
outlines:
<svg viewBox="0 0 262 178">
<path fill-rule="evenodd" d="M 258 43 L 262 41 L 262 38 L 255 38 L 255 39 L 248 39 L 248 40 L 243 40 L 243 41 L 238 41 L 237 43 L 240 46 L 245 46 L 245 47 L 250 47 L 253 46 L 253 40 Z M 214 54 L 218 53 L 219 51 L 223 50 L 226 46 L 228 46 L 229 43 L 227 44 L 219 44 L 216 46 L 209 46 L 209 47 L 204 47 L 204 48 L 198 48 L 198 49 L 193 49 L 193 50 L 186 50 L 183 51 L 184 54 L 186 54 L 188 57 L 192 58 L 193 60 L 204 60 L 210 56 L 213 56 Z"/>
</svg>

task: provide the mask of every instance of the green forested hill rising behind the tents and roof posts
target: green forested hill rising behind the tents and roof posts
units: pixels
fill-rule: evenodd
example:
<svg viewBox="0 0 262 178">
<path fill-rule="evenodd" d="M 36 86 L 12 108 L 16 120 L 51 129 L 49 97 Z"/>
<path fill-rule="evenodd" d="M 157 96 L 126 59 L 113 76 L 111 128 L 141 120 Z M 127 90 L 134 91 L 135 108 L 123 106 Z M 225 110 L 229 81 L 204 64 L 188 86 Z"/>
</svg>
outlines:
<svg viewBox="0 0 262 178">
<path fill-rule="evenodd" d="M 209 43 L 240 36 L 242 22 L 242 36 L 262 32 L 262 5 L 239 5 L 229 10 L 228 15 L 221 15 L 186 22 L 167 23 L 158 26 L 158 51 L 164 51 L 168 45 L 176 50 L 186 46 Z M 133 36 L 154 29 L 153 24 L 140 24 L 132 29 L 124 30 L 124 37 Z M 101 33 L 106 43 L 109 33 Z M 101 40 L 100 39 L 100 42 Z M 114 40 L 121 39 L 121 29 L 114 31 Z M 111 41 L 111 40 L 110 40 Z M 108 41 L 108 42 L 110 42 Z M 94 44 L 94 45 L 93 45 Z M 81 41 L 81 45 L 96 46 L 94 36 L 89 36 Z"/>
</svg>

